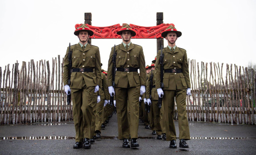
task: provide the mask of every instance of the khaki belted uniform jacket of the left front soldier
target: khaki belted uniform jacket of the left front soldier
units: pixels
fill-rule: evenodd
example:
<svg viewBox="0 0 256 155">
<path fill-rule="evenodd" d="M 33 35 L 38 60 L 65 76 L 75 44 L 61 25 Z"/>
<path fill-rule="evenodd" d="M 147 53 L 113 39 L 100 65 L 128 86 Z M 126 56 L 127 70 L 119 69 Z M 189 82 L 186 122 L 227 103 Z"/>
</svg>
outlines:
<svg viewBox="0 0 256 155">
<path fill-rule="evenodd" d="M 90 86 L 101 86 L 101 58 L 100 51 L 97 46 L 87 44 L 85 51 L 82 50 L 80 44 L 70 46 L 72 53 L 72 68 L 94 68 L 94 72 L 72 72 L 70 77 L 70 88 L 81 89 L 82 81 L 84 79 L 85 85 Z M 67 49 L 64 58 L 64 73 L 63 82 L 64 85 L 68 84 L 68 72 L 69 72 L 69 47 Z"/>
</svg>

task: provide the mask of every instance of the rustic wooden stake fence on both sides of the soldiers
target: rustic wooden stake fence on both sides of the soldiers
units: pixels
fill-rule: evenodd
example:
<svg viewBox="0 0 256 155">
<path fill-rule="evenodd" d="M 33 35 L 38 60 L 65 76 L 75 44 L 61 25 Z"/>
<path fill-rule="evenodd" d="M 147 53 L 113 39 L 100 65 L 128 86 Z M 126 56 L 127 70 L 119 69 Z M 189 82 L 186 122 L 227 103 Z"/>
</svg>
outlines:
<svg viewBox="0 0 256 155">
<path fill-rule="evenodd" d="M 0 67 L 0 124 L 73 120 L 72 105 L 66 104 L 63 90 L 62 62 L 58 55 L 51 69 L 45 60 L 21 66 L 17 62 L 3 72 Z M 256 125 L 254 69 L 190 60 L 189 70 L 188 120 Z"/>
</svg>

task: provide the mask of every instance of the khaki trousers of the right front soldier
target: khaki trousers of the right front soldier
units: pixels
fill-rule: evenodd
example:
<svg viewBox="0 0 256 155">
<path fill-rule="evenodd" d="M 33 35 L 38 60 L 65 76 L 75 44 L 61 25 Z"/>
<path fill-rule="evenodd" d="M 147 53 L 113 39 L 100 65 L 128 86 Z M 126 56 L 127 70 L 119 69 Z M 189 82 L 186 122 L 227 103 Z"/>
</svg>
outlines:
<svg viewBox="0 0 256 155">
<path fill-rule="evenodd" d="M 179 139 L 190 140 L 190 133 L 186 112 L 186 89 L 163 90 L 163 105 L 165 116 L 166 140 L 176 140 L 173 120 L 174 100 L 176 101 L 179 118 Z"/>
</svg>

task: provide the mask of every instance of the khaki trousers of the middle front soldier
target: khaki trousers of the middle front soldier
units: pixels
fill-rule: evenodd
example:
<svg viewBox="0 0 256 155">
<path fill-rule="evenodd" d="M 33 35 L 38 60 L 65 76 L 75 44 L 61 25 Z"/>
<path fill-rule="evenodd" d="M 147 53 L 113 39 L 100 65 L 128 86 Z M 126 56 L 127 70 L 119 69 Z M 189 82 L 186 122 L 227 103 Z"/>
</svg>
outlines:
<svg viewBox="0 0 256 155">
<path fill-rule="evenodd" d="M 118 139 L 138 138 L 140 86 L 130 88 L 115 87 L 115 99 L 118 115 Z M 128 104 L 129 102 L 129 104 Z M 130 109 L 130 125 L 128 108 Z M 129 136 L 130 131 L 130 136 Z"/>
</svg>

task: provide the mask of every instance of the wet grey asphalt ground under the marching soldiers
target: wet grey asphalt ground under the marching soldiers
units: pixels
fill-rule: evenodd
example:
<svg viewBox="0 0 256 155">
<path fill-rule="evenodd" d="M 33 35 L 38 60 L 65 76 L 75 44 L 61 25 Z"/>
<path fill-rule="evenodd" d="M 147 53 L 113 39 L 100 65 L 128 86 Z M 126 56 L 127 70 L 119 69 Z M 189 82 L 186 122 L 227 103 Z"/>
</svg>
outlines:
<svg viewBox="0 0 256 155">
<path fill-rule="evenodd" d="M 255 155 L 256 126 L 189 122 L 189 148 L 169 148 L 170 141 L 157 140 L 150 129 L 139 123 L 138 148 L 122 148 L 118 140 L 117 116 L 102 130 L 102 139 L 91 149 L 73 149 L 75 130 L 73 122 L 0 125 L 0 155 Z M 179 136 L 178 121 L 175 121 Z"/>
</svg>

